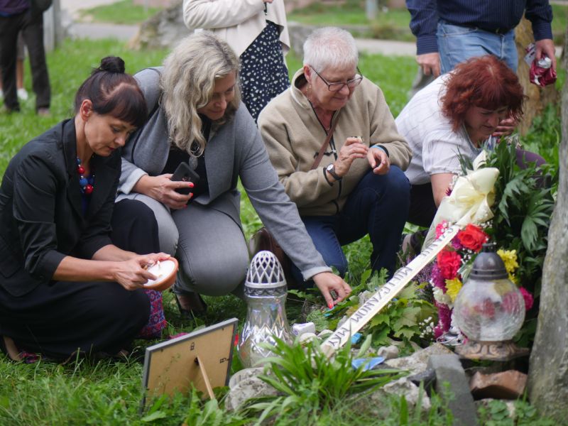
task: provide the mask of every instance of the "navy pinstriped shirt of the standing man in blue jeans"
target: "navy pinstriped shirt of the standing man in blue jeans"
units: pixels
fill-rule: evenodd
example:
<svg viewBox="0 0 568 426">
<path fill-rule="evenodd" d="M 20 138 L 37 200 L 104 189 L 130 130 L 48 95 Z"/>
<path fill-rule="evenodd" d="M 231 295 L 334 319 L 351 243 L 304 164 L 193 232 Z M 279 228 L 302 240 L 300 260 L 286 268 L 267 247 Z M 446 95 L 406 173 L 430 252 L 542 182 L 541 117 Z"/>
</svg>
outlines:
<svg viewBox="0 0 568 426">
<path fill-rule="evenodd" d="M 406 6 L 418 55 L 438 51 L 436 29 L 440 19 L 452 25 L 503 33 L 515 28 L 525 13 L 535 40 L 552 39 L 548 0 L 406 0 Z"/>
</svg>

